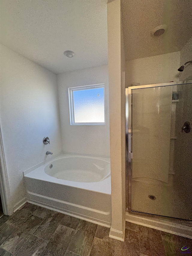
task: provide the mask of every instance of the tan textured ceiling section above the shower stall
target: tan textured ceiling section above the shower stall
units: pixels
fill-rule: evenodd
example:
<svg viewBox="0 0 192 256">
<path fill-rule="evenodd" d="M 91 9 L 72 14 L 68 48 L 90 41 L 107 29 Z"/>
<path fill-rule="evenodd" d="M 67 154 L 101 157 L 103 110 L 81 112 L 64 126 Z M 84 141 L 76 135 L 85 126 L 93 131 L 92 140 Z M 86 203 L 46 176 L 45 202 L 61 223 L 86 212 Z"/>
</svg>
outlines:
<svg viewBox="0 0 192 256">
<path fill-rule="evenodd" d="M 122 0 L 126 60 L 176 52 L 192 37 L 191 0 Z M 151 35 L 166 24 L 161 37 Z"/>
</svg>

